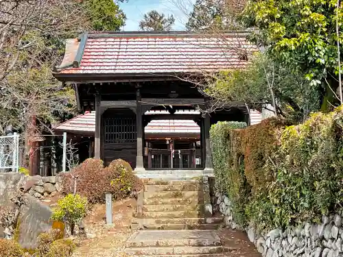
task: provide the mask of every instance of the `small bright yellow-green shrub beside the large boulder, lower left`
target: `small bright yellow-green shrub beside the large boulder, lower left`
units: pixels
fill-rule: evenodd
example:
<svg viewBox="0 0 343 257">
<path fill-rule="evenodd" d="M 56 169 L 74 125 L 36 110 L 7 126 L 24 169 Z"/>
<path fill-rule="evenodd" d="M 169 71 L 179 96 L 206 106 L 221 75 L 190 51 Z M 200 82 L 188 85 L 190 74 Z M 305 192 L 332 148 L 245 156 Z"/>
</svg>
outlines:
<svg viewBox="0 0 343 257">
<path fill-rule="evenodd" d="M 75 224 L 86 216 L 87 199 L 80 195 L 69 194 L 58 201 L 58 207 L 53 210 L 51 219 L 64 221 L 70 227 L 73 234 Z"/>
</svg>

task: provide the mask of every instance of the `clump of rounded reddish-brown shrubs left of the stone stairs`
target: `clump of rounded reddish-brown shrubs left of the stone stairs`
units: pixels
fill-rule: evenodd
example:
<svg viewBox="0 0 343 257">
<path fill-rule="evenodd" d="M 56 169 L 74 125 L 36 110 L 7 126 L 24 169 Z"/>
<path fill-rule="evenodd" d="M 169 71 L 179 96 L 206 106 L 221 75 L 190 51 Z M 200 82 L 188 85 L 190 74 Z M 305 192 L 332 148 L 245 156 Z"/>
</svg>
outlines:
<svg viewBox="0 0 343 257">
<path fill-rule="evenodd" d="M 114 160 L 104 168 L 104 162 L 89 158 L 75 167 L 70 173 L 62 175 L 62 193 L 74 192 L 87 197 L 91 204 L 104 203 L 106 193 L 115 199 L 133 197 L 142 188 L 142 183 L 134 173 L 130 164 L 124 160 Z"/>
</svg>

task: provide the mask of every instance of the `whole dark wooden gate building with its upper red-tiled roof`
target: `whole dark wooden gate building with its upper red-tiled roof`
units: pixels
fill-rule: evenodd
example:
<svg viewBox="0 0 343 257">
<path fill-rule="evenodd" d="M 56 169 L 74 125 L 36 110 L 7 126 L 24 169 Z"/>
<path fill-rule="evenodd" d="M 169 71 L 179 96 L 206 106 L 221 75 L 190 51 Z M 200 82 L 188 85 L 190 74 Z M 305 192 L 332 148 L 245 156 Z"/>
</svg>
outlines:
<svg viewBox="0 0 343 257">
<path fill-rule="evenodd" d="M 215 99 L 204 96 L 195 78 L 244 69 L 251 51 L 257 48 L 246 41 L 244 32 L 220 37 L 188 32 L 85 33 L 67 40 L 64 59 L 55 68 L 54 76 L 73 85 L 80 110 L 95 111 L 95 158 L 106 164 L 123 158 L 139 174 L 156 169 L 212 174 L 211 124 L 249 123 L 250 110 L 245 103 L 235 102 L 215 112 L 200 113 L 199 108 L 206 109 Z M 200 127 L 198 138 L 185 143 L 181 136 L 178 140 L 183 145 L 174 145 L 171 132 L 155 140 L 145 137 L 148 123 L 171 120 L 177 120 L 178 126 L 182 121 L 193 121 Z M 159 147 L 152 147 L 152 141 L 158 145 L 158 140 L 163 144 L 161 141 Z M 167 149 L 160 149 L 166 144 Z M 197 147 L 198 151 L 187 155 L 191 156 L 187 157 L 191 165 L 182 165 L 182 160 L 173 165 L 172 154 Z M 155 156 L 160 156 L 161 165 L 154 167 Z"/>
</svg>

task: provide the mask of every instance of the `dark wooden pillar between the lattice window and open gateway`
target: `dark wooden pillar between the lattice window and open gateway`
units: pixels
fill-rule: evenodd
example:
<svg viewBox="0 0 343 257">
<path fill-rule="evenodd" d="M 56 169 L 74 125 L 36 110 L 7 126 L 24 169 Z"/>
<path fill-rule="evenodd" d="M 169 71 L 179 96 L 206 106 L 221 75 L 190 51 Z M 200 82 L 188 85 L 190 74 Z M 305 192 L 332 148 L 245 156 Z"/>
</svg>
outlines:
<svg viewBox="0 0 343 257">
<path fill-rule="evenodd" d="M 137 89 L 137 160 L 135 171 L 144 170 L 143 162 L 143 112 L 141 103 L 141 92 Z"/>
</svg>

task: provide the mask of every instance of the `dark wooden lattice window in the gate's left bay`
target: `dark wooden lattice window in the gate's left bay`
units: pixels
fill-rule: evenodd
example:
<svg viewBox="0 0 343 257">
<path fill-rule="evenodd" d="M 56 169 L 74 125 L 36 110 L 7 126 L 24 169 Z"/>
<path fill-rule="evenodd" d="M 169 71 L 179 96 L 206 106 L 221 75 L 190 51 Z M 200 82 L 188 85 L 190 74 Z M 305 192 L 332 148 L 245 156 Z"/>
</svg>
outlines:
<svg viewBox="0 0 343 257">
<path fill-rule="evenodd" d="M 136 142 L 136 132 L 136 117 L 105 119 L 105 143 Z"/>
</svg>

